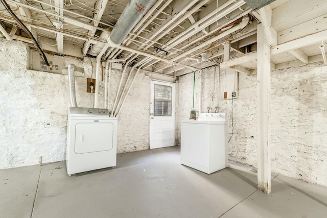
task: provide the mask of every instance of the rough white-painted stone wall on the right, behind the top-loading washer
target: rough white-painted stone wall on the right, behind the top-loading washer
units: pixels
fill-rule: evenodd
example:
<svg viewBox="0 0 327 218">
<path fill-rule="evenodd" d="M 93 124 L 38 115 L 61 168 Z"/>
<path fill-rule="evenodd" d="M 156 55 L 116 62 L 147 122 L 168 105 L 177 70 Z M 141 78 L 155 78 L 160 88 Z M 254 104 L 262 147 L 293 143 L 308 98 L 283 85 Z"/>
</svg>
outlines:
<svg viewBox="0 0 327 218">
<path fill-rule="evenodd" d="M 224 100 L 224 70 L 216 80 L 218 67 L 203 70 L 203 111 L 218 103 L 219 112 L 229 119 L 228 159 L 256 168 L 257 99 L 256 75 L 239 74 L 238 99 Z M 271 73 L 271 170 L 273 173 L 327 186 L 327 66 L 321 63 L 275 70 Z M 219 78 L 219 95 L 214 81 Z M 322 81 L 319 81 L 323 79 Z M 199 81 L 199 80 L 198 80 Z M 310 82 L 316 81 L 316 82 Z M 178 83 L 177 141 L 180 121 L 188 119 L 193 74 L 181 76 Z M 217 85 L 217 84 L 216 84 Z M 196 83 L 196 96 L 199 83 Z M 220 97 L 219 101 L 218 98 Z M 214 103 L 212 103 L 214 102 Z M 233 104 L 233 106 L 232 106 Z M 233 130 L 231 124 L 233 107 Z M 198 110 L 198 105 L 196 109 Z M 233 135 L 231 134 L 233 132 Z"/>
</svg>

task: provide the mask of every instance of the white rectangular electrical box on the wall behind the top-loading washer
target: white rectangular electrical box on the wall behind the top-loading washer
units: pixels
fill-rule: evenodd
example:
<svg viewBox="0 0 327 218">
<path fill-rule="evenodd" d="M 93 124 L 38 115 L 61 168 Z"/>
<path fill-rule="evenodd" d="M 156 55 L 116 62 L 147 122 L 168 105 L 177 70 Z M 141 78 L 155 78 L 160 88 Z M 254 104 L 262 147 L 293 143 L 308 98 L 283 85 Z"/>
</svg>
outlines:
<svg viewBox="0 0 327 218">
<path fill-rule="evenodd" d="M 226 87 L 224 88 L 224 99 L 237 99 L 238 98 L 238 85 L 239 77 L 238 72 L 231 69 L 225 69 L 226 74 Z"/>
</svg>

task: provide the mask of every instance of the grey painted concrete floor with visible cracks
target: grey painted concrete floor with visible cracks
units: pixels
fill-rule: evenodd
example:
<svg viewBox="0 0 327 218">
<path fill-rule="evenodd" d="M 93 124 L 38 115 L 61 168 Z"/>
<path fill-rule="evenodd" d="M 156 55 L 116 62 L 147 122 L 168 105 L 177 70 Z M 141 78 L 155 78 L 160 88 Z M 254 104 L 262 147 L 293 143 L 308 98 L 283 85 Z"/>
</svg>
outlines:
<svg viewBox="0 0 327 218">
<path fill-rule="evenodd" d="M 231 164 L 231 166 L 234 164 Z M 69 177 L 65 162 L 0 171 L 0 217 L 327 217 L 327 187 L 180 165 L 179 147 L 119 154 L 117 166 Z"/>
</svg>

